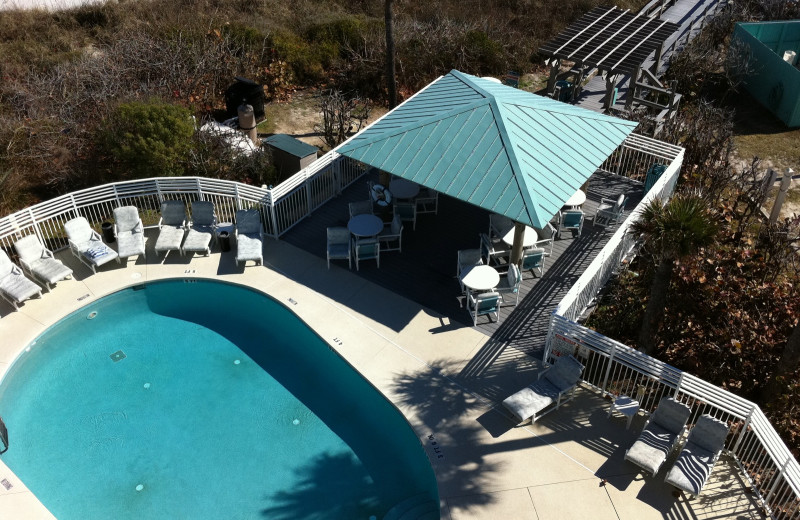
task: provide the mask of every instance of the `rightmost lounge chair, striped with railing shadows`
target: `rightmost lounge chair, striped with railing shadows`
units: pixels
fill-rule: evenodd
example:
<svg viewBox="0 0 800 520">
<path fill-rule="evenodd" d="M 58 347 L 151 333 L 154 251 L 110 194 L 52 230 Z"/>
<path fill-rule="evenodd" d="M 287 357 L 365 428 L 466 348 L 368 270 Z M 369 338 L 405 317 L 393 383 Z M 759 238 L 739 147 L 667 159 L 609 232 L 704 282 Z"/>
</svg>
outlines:
<svg viewBox="0 0 800 520">
<path fill-rule="evenodd" d="M 725 447 L 727 437 L 727 423 L 708 414 L 701 416 L 664 481 L 692 496 L 699 495 Z"/>
</svg>

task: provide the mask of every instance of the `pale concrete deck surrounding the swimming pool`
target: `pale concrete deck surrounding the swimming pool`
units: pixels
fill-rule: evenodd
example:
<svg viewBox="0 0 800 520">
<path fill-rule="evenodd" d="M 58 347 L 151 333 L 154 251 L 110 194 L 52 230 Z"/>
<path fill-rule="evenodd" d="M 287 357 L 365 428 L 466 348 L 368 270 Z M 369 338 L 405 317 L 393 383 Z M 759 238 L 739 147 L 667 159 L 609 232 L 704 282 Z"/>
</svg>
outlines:
<svg viewBox="0 0 800 520">
<path fill-rule="evenodd" d="M 265 266 L 237 268 L 233 252 L 214 248 L 209 257 L 171 253 L 164 260 L 153 252 L 154 243 L 150 230 L 146 261 L 112 262 L 97 274 L 62 251 L 58 257 L 75 271 L 72 280 L 16 312 L 1 301 L 0 375 L 48 326 L 102 296 L 163 278 L 214 278 L 284 303 L 405 414 L 436 473 L 443 519 L 764 518 L 725 456 L 693 500 L 673 496 L 663 469 L 644 477 L 623 460 L 644 417 L 626 430 L 625 419 L 609 419 L 608 401 L 589 390 L 534 426 L 515 427 L 496 400 L 482 396 L 509 395 L 528 384 L 540 359 L 492 349 L 493 358 L 466 378 L 462 369 L 486 355 L 485 334 L 450 323 L 341 262 L 328 270 L 324 259 L 265 239 Z M 366 263 L 362 269 L 375 267 Z M 500 357 L 503 363 L 496 363 Z M 13 449 L 13 425 L 9 430 Z M 0 486 L 0 517 L 53 518 L 0 456 L 3 480 L 11 487 Z"/>
</svg>

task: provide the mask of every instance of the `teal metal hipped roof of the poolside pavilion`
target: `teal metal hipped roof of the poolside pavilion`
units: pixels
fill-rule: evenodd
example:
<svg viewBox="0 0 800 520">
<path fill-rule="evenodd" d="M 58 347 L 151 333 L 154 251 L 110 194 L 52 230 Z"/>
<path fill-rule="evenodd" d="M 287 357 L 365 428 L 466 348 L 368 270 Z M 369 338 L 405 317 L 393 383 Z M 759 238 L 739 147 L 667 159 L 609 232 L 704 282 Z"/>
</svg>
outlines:
<svg viewBox="0 0 800 520">
<path fill-rule="evenodd" d="M 336 151 L 541 228 L 635 127 L 453 70 Z"/>
</svg>

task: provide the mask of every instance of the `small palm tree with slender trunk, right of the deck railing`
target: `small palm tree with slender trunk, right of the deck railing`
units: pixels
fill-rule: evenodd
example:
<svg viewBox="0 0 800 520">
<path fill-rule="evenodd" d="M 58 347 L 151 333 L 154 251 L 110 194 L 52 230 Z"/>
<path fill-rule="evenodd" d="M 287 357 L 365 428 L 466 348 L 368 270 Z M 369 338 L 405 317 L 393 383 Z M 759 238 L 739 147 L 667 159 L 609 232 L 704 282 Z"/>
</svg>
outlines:
<svg viewBox="0 0 800 520">
<path fill-rule="evenodd" d="M 656 349 L 656 334 L 664 318 L 675 261 L 713 243 L 717 223 L 702 197 L 695 193 L 681 193 L 666 204 L 661 199 L 653 200 L 631 230 L 641 235 L 645 251 L 653 256 L 655 263 L 650 298 L 639 331 L 639 349 L 652 355 Z"/>
</svg>

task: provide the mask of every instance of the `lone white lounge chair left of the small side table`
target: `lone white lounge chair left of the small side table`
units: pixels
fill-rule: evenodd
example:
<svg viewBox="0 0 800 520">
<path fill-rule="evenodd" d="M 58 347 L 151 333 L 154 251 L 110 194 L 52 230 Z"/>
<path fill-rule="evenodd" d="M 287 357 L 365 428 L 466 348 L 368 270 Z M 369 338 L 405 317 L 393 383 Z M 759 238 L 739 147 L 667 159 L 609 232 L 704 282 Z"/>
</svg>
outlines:
<svg viewBox="0 0 800 520">
<path fill-rule="evenodd" d="M 580 361 L 572 356 L 561 356 L 552 366 L 539 372 L 534 383 L 507 397 L 503 406 L 518 422 L 530 419 L 533 424 L 575 396 L 582 372 Z M 555 407 L 551 407 L 553 404 Z"/>
</svg>

